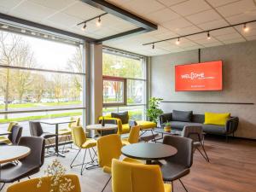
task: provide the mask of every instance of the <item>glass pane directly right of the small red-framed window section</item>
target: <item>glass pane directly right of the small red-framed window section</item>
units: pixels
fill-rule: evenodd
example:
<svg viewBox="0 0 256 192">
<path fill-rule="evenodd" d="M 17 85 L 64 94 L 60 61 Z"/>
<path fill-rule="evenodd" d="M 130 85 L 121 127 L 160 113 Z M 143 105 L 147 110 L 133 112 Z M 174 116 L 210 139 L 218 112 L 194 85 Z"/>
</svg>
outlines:
<svg viewBox="0 0 256 192">
<path fill-rule="evenodd" d="M 145 104 L 145 82 L 140 80 L 127 80 L 127 104 Z"/>
</svg>

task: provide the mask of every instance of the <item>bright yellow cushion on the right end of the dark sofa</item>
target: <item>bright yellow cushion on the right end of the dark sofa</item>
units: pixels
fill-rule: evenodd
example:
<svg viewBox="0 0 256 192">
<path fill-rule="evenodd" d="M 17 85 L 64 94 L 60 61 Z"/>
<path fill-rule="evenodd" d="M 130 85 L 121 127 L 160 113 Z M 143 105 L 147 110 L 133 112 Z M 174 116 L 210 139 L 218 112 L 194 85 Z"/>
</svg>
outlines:
<svg viewBox="0 0 256 192">
<path fill-rule="evenodd" d="M 205 123 L 210 125 L 225 125 L 230 113 L 205 113 Z"/>
</svg>

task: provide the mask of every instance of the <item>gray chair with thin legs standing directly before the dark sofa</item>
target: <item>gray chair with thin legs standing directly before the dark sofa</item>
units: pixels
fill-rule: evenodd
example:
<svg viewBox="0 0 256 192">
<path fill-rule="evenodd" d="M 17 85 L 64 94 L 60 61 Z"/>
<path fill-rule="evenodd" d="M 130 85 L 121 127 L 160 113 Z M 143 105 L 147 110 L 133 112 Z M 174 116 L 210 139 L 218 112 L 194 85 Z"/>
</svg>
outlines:
<svg viewBox="0 0 256 192">
<path fill-rule="evenodd" d="M 197 149 L 200 152 L 200 154 L 203 156 L 203 158 L 208 162 L 210 162 L 204 147 L 204 135 L 203 135 L 203 129 L 201 125 L 184 126 L 182 136 L 192 139 L 193 145 L 194 145 L 194 152 L 195 152 L 195 149 Z M 200 148 L 202 148 L 204 154 L 201 152 Z"/>
</svg>

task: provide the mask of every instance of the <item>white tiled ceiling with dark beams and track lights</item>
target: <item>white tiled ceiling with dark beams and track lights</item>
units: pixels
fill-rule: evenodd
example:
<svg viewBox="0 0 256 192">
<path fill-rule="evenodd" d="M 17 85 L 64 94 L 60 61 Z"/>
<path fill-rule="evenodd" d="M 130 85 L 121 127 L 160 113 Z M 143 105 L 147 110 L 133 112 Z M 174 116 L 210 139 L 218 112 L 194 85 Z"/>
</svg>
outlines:
<svg viewBox="0 0 256 192">
<path fill-rule="evenodd" d="M 155 44 L 155 49 L 152 49 L 152 45 L 142 45 L 256 20 L 256 0 L 108 0 L 108 2 L 159 26 L 154 32 L 103 43 L 117 49 L 141 55 L 163 55 L 256 39 L 255 22 L 247 25 L 250 28 L 248 32 L 243 32 L 242 26 L 211 32 L 210 40 L 207 39 L 207 34 L 198 34 L 181 38 L 179 45 L 175 44 L 176 40 Z M 90 38 L 105 38 L 137 28 L 126 20 L 108 14 L 102 17 L 102 26 L 97 27 L 92 20 L 87 24 L 84 32 L 77 24 L 103 12 L 79 0 L 0 0 L 0 12 Z"/>
</svg>

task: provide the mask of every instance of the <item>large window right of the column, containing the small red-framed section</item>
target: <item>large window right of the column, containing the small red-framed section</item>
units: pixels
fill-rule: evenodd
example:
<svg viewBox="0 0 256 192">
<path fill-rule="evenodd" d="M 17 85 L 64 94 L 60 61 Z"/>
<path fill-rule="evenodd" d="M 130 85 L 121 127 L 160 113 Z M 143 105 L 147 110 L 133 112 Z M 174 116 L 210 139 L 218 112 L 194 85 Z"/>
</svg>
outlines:
<svg viewBox="0 0 256 192">
<path fill-rule="evenodd" d="M 104 49 L 102 69 L 103 114 L 128 111 L 131 119 L 145 119 L 145 58 Z"/>
</svg>

